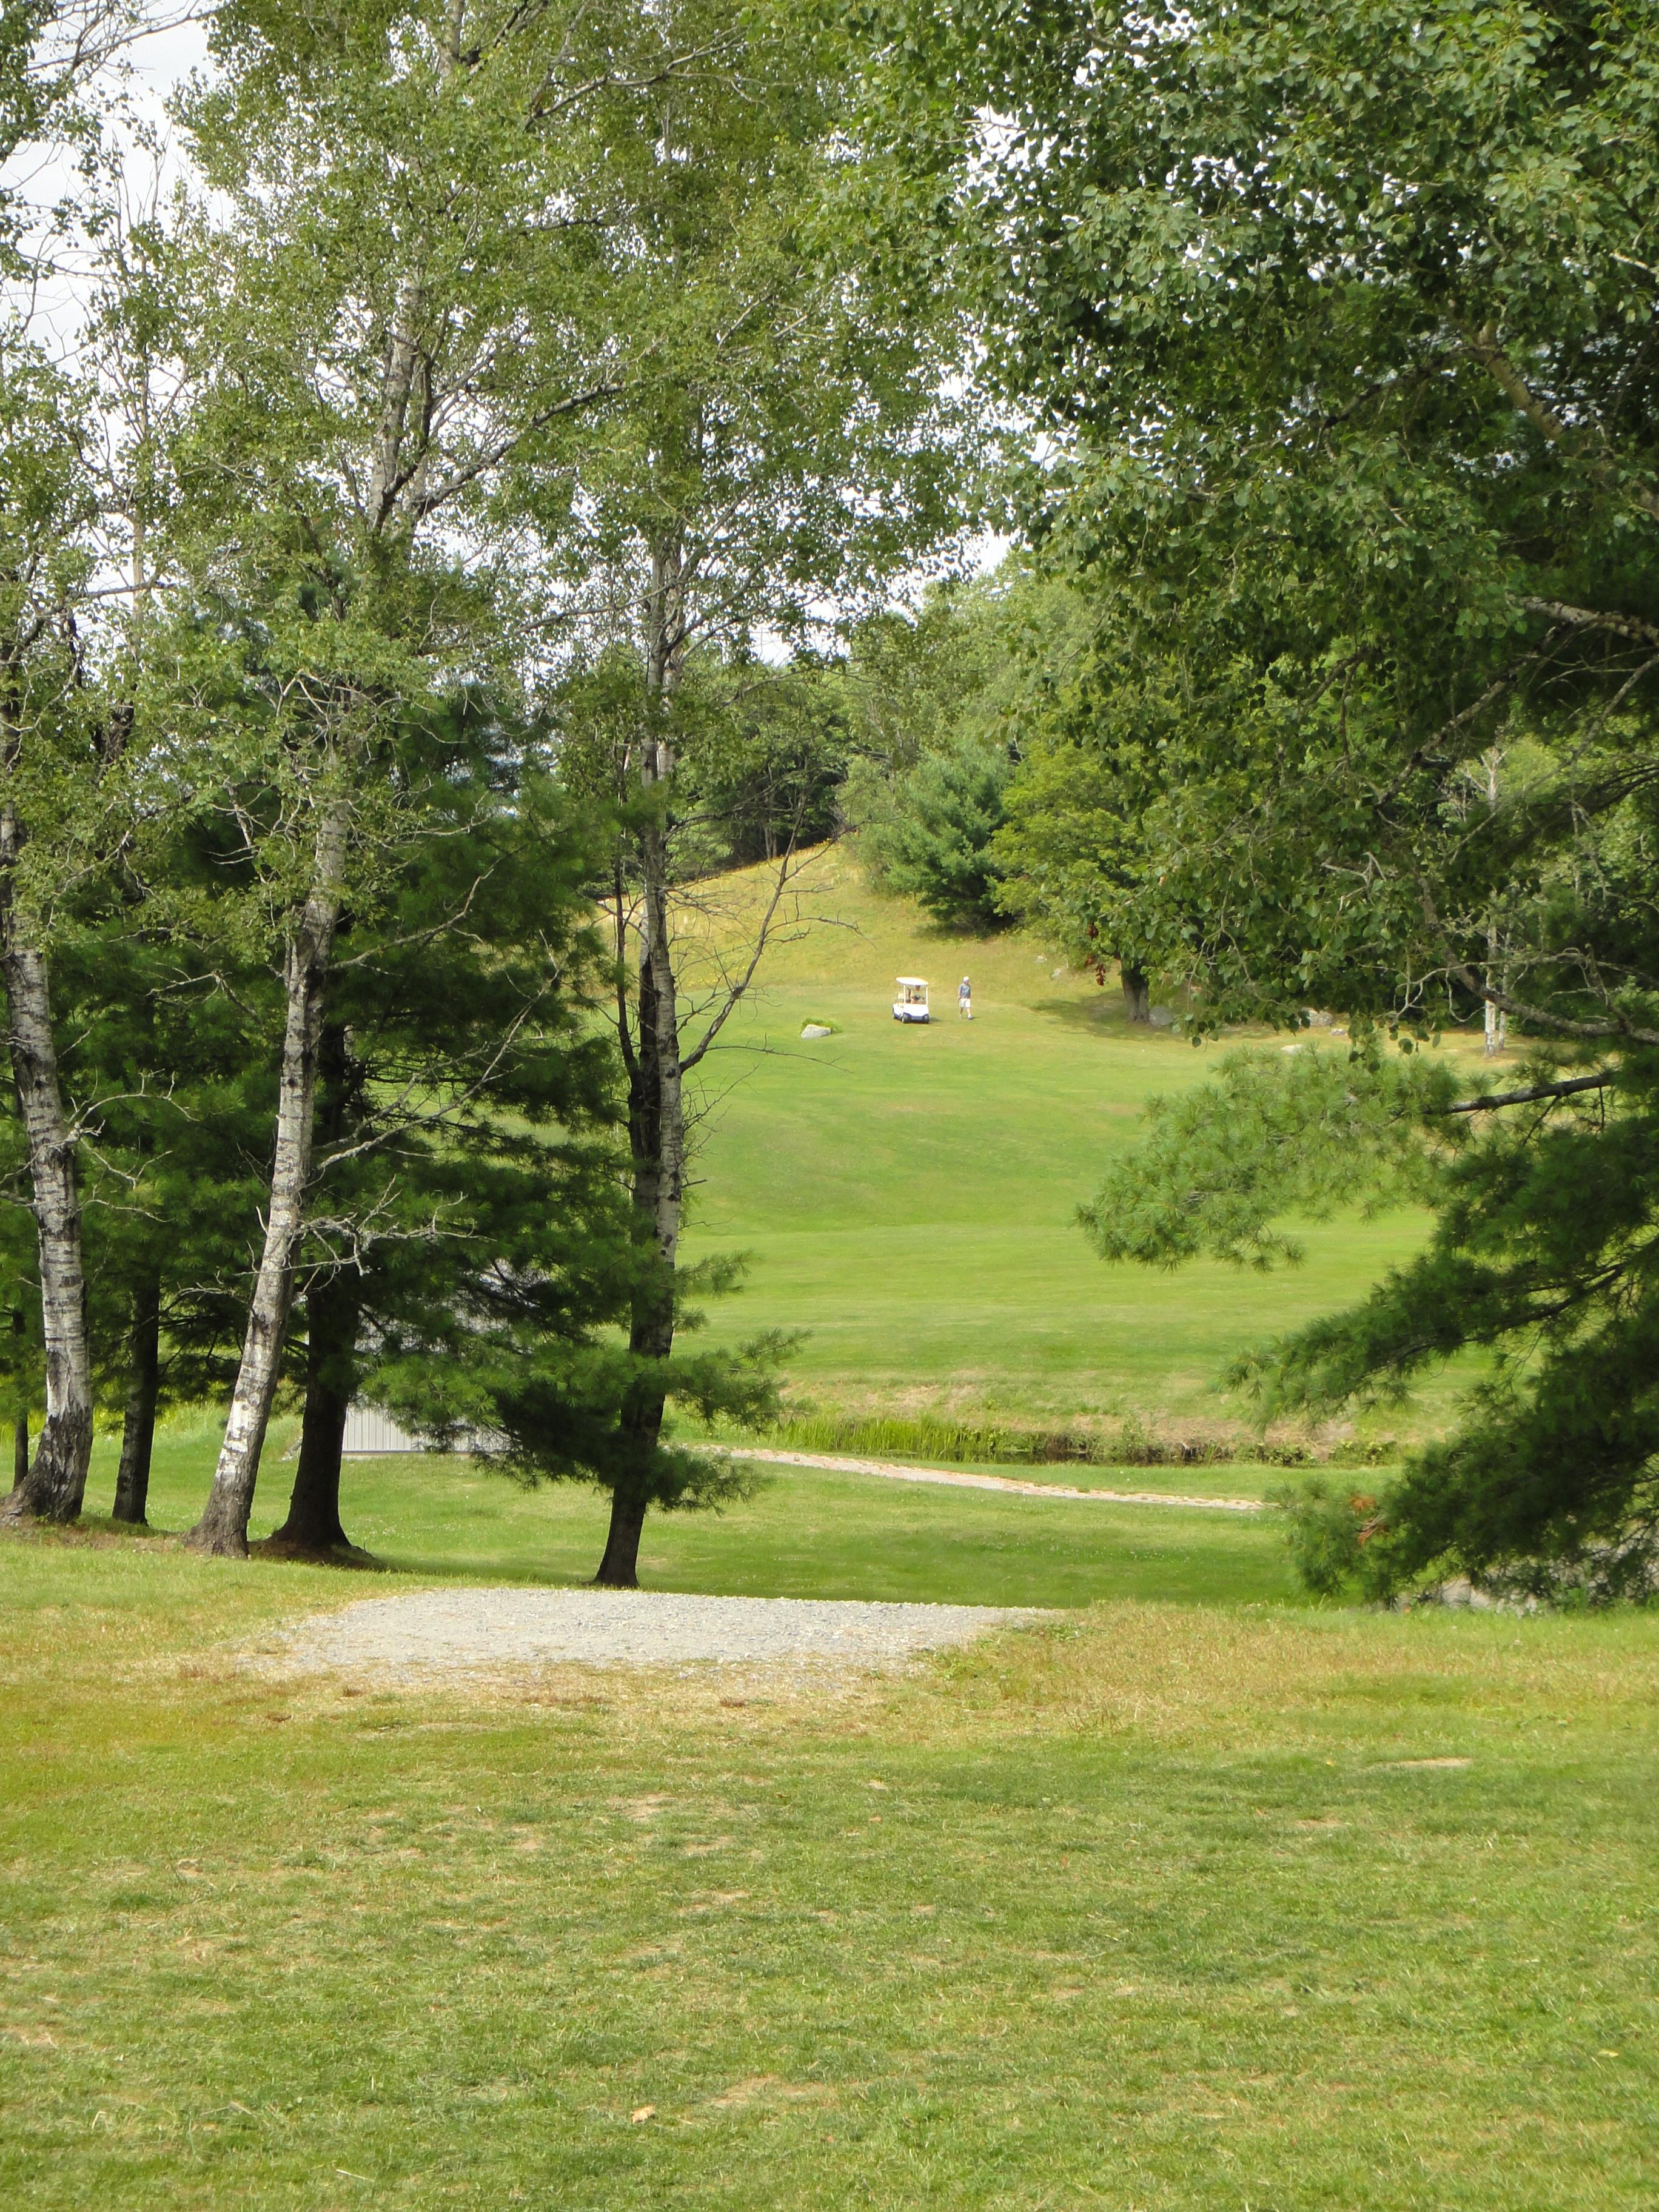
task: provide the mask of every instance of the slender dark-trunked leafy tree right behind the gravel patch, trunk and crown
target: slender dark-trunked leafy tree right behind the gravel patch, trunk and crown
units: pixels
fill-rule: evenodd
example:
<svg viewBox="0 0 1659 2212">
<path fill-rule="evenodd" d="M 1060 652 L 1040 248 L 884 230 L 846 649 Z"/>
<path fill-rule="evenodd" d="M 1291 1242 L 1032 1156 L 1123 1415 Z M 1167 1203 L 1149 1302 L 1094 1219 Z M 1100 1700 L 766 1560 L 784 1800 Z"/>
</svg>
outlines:
<svg viewBox="0 0 1659 2212">
<path fill-rule="evenodd" d="M 945 398 L 960 332 L 885 261 L 849 49 L 783 7 L 734 20 L 677 0 L 653 24 L 664 51 L 701 62 L 602 106 L 608 164 L 584 212 L 615 254 L 637 374 L 584 473 L 584 529 L 560 509 L 555 613 L 586 617 L 635 666 L 611 900 L 630 971 L 617 1040 L 633 1197 L 661 1259 L 630 1347 L 659 1365 L 677 1327 L 686 1086 L 750 989 L 799 865 L 785 838 L 748 949 L 692 1006 L 677 887 L 697 743 L 688 668 L 757 633 L 803 639 L 938 551 L 960 529 L 964 453 Z M 664 1391 L 637 1391 L 599 1582 L 635 1582 L 644 1515 L 672 1495 L 661 1420 Z"/>
</svg>

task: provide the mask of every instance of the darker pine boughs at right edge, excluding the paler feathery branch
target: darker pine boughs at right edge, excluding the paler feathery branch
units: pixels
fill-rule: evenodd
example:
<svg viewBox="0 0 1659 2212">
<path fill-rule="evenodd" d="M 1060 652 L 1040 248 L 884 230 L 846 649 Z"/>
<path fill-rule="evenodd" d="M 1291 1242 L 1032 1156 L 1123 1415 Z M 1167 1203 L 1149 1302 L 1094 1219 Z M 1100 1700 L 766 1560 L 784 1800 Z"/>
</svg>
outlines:
<svg viewBox="0 0 1659 2212">
<path fill-rule="evenodd" d="M 1383 1398 L 1464 1345 L 1493 1378 L 1383 1500 L 1385 1579 L 1491 1577 L 1659 1553 L 1659 1099 L 1628 1055 L 1606 1104 L 1566 1104 L 1469 1146 L 1425 1254 L 1347 1314 L 1254 1363 L 1279 1409 Z M 1641 1562 L 1648 1562 L 1644 1566 Z"/>
</svg>

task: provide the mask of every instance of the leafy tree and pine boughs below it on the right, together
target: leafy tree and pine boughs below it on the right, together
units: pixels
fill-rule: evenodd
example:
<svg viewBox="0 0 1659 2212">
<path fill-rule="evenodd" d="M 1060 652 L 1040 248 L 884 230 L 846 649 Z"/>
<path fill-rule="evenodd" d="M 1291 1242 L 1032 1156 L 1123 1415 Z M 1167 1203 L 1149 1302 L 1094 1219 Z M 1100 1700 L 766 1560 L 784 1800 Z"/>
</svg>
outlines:
<svg viewBox="0 0 1659 2212">
<path fill-rule="evenodd" d="M 891 131 L 1042 431 L 1086 648 L 991 856 L 1194 1026 L 1347 1015 L 1170 1106 L 1108 1256 L 1281 1256 L 1411 1190 L 1425 1254 L 1267 1407 L 1475 1352 L 1345 1568 L 1644 1586 L 1659 1551 L 1659 24 L 1601 0 L 927 0 Z M 1502 1088 L 1411 1055 L 1524 1035 Z M 1389 1040 L 1398 1040 L 1400 1053 Z M 1327 1528 L 1329 1535 L 1329 1528 Z M 1325 1551 L 1329 1562 L 1329 1546 Z"/>
</svg>

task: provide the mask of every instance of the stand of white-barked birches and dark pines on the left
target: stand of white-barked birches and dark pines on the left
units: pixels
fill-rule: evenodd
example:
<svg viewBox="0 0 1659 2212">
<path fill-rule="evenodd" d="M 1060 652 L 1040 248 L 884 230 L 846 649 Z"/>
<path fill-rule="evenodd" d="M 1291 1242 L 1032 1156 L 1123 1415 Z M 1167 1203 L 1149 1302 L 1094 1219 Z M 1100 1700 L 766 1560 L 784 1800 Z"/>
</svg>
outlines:
<svg viewBox="0 0 1659 2212">
<path fill-rule="evenodd" d="M 825 790 L 754 641 L 958 529 L 958 327 L 814 11 L 230 0 L 166 188 L 135 24 L 24 13 L 4 153 L 71 188 L 4 206 L 7 1511 L 80 1511 L 102 1398 L 142 1520 L 157 1407 L 228 1387 L 190 1542 L 241 1553 L 292 1376 L 279 1544 L 345 1542 L 372 1387 L 606 1484 L 628 1584 L 734 1480 L 666 1407 L 774 1387 L 686 1352 L 679 1261 L 686 1086 Z M 752 841 L 690 991 L 686 876 Z"/>
</svg>

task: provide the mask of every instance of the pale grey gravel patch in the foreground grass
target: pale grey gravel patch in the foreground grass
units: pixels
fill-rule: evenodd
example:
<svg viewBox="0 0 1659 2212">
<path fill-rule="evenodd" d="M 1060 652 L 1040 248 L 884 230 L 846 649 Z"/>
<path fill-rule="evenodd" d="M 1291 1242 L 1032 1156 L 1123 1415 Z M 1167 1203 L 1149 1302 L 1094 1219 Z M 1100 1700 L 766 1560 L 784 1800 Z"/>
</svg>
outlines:
<svg viewBox="0 0 1659 2212">
<path fill-rule="evenodd" d="M 301 1621 L 285 1659 L 301 1668 L 405 1674 L 714 1661 L 872 1666 L 969 1644 L 1042 1619 L 1004 1606 L 894 1606 L 818 1597 L 679 1597 L 661 1590 L 414 1590 L 363 1597 Z"/>
</svg>

